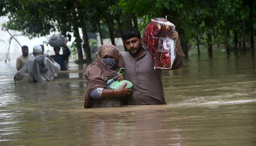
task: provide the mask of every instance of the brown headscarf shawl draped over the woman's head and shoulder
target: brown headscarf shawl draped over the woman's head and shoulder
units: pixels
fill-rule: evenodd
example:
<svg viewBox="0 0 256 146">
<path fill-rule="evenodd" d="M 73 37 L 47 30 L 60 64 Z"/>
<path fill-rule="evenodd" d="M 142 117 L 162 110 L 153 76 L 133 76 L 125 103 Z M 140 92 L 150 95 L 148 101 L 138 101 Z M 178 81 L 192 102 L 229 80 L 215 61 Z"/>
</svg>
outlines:
<svg viewBox="0 0 256 146">
<path fill-rule="evenodd" d="M 105 50 L 106 49 L 106 50 Z M 116 58 L 116 68 L 114 70 L 108 69 L 105 63 L 102 61 L 102 57 L 109 55 Z M 99 47 L 97 59 L 87 66 L 84 77 L 88 81 L 87 90 L 84 99 L 84 108 L 91 107 L 90 92 L 97 88 L 104 88 L 107 85 L 107 81 L 117 73 L 120 68 L 124 67 L 124 61 L 120 51 L 117 50 L 116 46 L 104 44 Z"/>
</svg>

